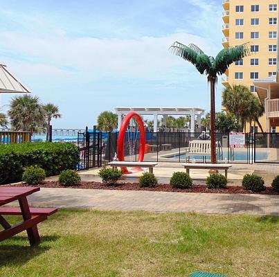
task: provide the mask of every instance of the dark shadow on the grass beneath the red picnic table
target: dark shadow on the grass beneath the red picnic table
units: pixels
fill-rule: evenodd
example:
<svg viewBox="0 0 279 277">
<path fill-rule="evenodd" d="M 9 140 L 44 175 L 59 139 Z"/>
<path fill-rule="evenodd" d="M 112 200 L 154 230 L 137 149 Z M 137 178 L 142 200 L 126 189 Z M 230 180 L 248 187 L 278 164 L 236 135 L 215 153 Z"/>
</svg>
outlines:
<svg viewBox="0 0 279 277">
<path fill-rule="evenodd" d="M 6 244 L 0 245 L 0 267 L 24 264 L 51 249 L 51 247 L 43 245 L 44 242 L 54 242 L 58 238 L 58 236 L 43 235 L 41 244 L 34 247 L 30 247 L 27 237 L 10 238 L 4 242 Z"/>
</svg>

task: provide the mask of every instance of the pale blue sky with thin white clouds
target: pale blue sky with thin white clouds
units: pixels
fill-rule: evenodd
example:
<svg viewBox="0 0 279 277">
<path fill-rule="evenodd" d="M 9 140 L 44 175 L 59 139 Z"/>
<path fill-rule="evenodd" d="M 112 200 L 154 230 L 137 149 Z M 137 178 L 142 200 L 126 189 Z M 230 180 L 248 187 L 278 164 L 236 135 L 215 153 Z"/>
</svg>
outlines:
<svg viewBox="0 0 279 277">
<path fill-rule="evenodd" d="M 169 50 L 222 49 L 222 0 L 0 0 L 0 62 L 42 103 L 54 128 L 96 124 L 114 107 L 201 107 L 206 76 Z M 221 78 L 219 78 L 221 79 Z M 218 83 L 217 110 L 222 84 Z M 3 111 L 15 94 L 0 96 Z"/>
</svg>

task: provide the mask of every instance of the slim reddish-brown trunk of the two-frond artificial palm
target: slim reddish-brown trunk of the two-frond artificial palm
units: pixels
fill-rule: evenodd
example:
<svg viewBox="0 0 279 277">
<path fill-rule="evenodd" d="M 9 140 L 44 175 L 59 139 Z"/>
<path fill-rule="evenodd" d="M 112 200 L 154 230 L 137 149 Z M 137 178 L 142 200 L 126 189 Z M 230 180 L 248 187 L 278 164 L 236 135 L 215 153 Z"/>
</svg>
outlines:
<svg viewBox="0 0 279 277">
<path fill-rule="evenodd" d="M 210 82 L 210 139 L 211 139 L 211 163 L 216 163 L 216 143 L 215 143 L 215 84 L 216 76 L 208 76 Z"/>
</svg>

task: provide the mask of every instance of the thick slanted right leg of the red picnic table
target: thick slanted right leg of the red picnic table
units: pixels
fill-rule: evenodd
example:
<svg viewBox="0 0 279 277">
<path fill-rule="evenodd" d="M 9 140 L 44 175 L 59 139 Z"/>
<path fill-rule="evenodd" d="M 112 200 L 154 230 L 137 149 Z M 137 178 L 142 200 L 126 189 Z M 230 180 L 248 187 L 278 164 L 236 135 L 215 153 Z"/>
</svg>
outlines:
<svg viewBox="0 0 279 277">
<path fill-rule="evenodd" d="M 21 208 L 22 217 L 24 220 L 29 220 L 31 218 L 30 208 L 26 197 L 19 199 L 19 206 Z M 39 238 L 39 231 L 37 225 L 26 230 L 30 245 L 39 244 L 41 239 Z"/>
</svg>

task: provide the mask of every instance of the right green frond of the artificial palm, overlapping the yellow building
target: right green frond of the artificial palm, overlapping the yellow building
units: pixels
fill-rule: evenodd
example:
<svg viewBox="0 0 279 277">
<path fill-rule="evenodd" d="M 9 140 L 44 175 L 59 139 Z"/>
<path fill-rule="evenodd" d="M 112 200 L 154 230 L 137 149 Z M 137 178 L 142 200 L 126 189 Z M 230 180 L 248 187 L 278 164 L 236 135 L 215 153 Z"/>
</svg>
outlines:
<svg viewBox="0 0 279 277">
<path fill-rule="evenodd" d="M 248 55 L 250 55 L 249 43 L 222 49 L 215 57 L 214 69 L 216 74 L 224 74 L 230 64 Z"/>
</svg>

